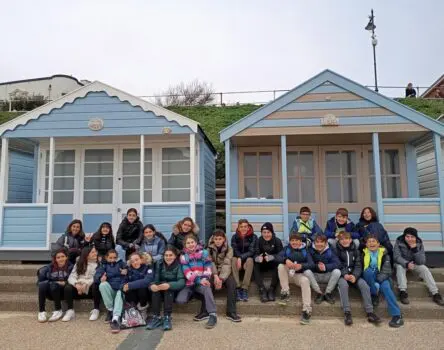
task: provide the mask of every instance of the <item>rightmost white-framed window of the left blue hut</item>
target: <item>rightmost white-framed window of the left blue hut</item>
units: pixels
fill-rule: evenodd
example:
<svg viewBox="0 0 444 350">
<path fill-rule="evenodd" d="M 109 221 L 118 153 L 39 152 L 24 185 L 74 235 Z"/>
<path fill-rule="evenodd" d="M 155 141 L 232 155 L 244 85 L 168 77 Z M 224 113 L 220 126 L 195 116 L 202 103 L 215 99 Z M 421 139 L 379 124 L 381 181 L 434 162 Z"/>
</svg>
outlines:
<svg viewBox="0 0 444 350">
<path fill-rule="evenodd" d="M 190 149 L 162 149 L 162 201 L 190 200 Z"/>
</svg>

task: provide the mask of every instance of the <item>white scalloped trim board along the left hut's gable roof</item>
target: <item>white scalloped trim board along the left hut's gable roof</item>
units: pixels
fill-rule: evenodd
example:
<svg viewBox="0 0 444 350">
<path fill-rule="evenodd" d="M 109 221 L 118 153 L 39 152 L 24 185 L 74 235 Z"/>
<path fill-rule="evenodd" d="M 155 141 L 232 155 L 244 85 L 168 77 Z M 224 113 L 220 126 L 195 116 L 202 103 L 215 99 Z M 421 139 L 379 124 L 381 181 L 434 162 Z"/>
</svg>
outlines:
<svg viewBox="0 0 444 350">
<path fill-rule="evenodd" d="M 76 98 L 85 97 L 90 92 L 105 92 L 111 97 L 117 97 L 122 102 L 128 102 L 134 107 L 140 107 L 146 112 L 153 112 L 158 117 L 164 117 L 168 121 L 178 123 L 180 126 L 189 127 L 194 133 L 198 132 L 199 123 L 191 120 L 183 115 L 174 113 L 168 109 L 149 103 L 144 99 L 133 96 L 122 90 L 116 89 L 112 86 L 104 84 L 100 81 L 94 81 L 85 85 L 71 93 L 49 102 L 41 107 L 38 107 L 28 113 L 25 113 L 17 118 L 10 120 L 0 126 L 0 135 L 3 135 L 8 130 L 14 130 L 19 125 L 25 125 L 30 120 L 38 119 L 43 114 L 49 114 L 55 108 L 62 108 L 66 103 L 73 103 Z"/>
</svg>

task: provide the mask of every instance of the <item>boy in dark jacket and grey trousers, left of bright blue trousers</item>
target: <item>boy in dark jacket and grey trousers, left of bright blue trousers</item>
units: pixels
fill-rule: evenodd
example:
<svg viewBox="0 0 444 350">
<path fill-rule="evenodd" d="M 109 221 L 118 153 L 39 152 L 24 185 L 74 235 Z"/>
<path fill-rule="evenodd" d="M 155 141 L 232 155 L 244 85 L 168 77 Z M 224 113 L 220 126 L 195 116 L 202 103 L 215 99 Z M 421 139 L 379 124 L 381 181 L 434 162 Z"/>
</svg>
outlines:
<svg viewBox="0 0 444 350">
<path fill-rule="evenodd" d="M 367 320 L 370 323 L 378 324 L 380 318 L 373 312 L 372 297 L 368 284 L 361 278 L 362 275 L 362 257 L 359 247 L 356 247 L 352 241 L 349 232 L 341 232 L 339 241 L 336 245 L 336 253 L 341 263 L 341 278 L 338 282 L 339 297 L 341 298 L 342 309 L 344 310 L 344 323 L 347 326 L 353 324 L 351 316 L 350 300 L 348 298 L 348 289 L 350 286 L 359 288 L 364 303 L 364 310 L 367 313 Z"/>
</svg>

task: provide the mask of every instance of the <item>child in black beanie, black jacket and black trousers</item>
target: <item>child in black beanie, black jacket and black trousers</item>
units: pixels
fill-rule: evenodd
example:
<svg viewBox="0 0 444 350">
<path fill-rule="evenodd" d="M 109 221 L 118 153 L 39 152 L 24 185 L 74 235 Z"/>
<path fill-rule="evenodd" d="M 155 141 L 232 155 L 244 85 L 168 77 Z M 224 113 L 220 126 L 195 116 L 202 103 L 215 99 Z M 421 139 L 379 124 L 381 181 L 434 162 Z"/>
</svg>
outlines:
<svg viewBox="0 0 444 350">
<path fill-rule="evenodd" d="M 282 241 L 276 237 L 273 225 L 266 222 L 261 227 L 261 237 L 257 240 L 254 254 L 254 280 L 259 288 L 261 302 L 276 300 L 276 287 L 279 283 L 277 254 L 284 249 Z M 270 288 L 264 285 L 264 271 L 271 271 Z"/>
</svg>

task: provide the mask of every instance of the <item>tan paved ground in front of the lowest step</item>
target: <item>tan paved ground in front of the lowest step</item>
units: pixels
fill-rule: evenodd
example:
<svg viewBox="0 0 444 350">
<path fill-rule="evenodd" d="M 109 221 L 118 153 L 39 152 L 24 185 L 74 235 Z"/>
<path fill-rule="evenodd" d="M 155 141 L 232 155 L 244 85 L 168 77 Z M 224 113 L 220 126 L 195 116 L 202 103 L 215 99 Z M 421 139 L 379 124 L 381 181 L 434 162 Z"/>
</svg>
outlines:
<svg viewBox="0 0 444 350">
<path fill-rule="evenodd" d="M 345 327 L 341 320 L 313 320 L 301 326 L 294 318 L 246 318 L 233 324 L 220 319 L 213 330 L 204 329 L 189 316 L 174 317 L 173 331 L 148 332 L 143 329 L 110 334 L 103 322 L 89 322 L 81 314 L 74 322 L 38 324 L 36 315 L 2 313 L 1 349 L 44 349 L 68 346 L 70 349 L 444 349 L 444 321 L 406 322 L 390 329 L 386 322 L 374 327 L 355 320 Z M 198 345 L 197 345 L 198 344 Z"/>
</svg>

